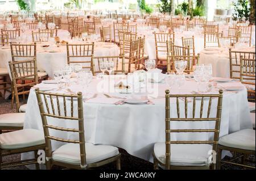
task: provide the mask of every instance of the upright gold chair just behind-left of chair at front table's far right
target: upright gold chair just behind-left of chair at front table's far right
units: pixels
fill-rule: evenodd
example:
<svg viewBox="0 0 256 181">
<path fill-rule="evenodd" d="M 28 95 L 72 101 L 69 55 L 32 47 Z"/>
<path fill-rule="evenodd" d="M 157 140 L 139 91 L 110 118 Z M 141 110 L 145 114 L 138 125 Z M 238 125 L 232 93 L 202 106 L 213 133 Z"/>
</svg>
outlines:
<svg viewBox="0 0 256 181">
<path fill-rule="evenodd" d="M 158 66 L 166 66 L 164 62 L 167 62 L 167 53 L 170 49 L 168 49 L 167 41 L 172 42 L 175 41 L 175 33 L 156 33 L 155 35 L 155 49 L 156 49 L 156 64 Z"/>
</svg>

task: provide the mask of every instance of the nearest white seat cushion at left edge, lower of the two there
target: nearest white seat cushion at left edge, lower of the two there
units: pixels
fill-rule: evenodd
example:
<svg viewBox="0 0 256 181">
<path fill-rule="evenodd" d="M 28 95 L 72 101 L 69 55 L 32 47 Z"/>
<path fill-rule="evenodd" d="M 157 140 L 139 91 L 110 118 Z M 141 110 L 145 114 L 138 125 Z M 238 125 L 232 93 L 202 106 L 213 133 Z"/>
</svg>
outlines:
<svg viewBox="0 0 256 181">
<path fill-rule="evenodd" d="M 22 129 L 0 134 L 1 149 L 28 148 L 30 146 L 43 145 L 44 143 L 44 133 L 36 129 Z"/>
</svg>

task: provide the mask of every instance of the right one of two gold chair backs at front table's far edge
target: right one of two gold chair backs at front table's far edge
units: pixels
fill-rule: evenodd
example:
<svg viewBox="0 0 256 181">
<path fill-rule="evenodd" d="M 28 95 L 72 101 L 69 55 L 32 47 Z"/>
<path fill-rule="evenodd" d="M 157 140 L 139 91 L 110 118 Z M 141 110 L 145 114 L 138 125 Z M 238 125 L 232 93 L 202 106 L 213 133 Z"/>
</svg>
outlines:
<svg viewBox="0 0 256 181">
<path fill-rule="evenodd" d="M 185 73 L 191 74 L 196 64 L 199 64 L 199 54 L 197 56 L 167 56 L 167 72 L 176 71 L 174 67 L 175 61 L 187 61 L 187 68 L 184 70 Z"/>
</svg>

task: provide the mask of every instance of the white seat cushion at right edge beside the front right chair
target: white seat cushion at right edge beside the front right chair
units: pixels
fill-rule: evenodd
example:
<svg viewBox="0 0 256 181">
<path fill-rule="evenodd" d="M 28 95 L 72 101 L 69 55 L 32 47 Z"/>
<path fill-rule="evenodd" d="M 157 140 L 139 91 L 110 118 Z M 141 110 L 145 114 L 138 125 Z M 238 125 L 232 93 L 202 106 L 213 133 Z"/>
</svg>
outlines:
<svg viewBox="0 0 256 181">
<path fill-rule="evenodd" d="M 243 129 L 232 134 L 223 136 L 218 141 L 222 146 L 243 150 L 255 151 L 255 131 L 253 129 Z"/>
</svg>

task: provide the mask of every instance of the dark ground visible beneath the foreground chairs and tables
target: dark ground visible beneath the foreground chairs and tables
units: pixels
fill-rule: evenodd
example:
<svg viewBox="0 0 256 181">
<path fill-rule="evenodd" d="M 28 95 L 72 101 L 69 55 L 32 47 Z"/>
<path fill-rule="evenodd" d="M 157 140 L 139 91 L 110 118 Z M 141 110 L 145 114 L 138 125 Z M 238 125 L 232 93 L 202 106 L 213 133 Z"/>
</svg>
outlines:
<svg viewBox="0 0 256 181">
<path fill-rule="evenodd" d="M 15 107 L 14 109 L 11 109 L 10 106 L 10 100 L 3 100 L 0 98 L 0 114 L 3 113 L 11 113 L 15 112 Z M 143 159 L 133 157 L 132 155 L 128 154 L 125 150 L 119 149 L 119 152 L 122 154 L 121 157 L 121 168 L 123 170 L 152 170 L 153 169 L 153 164 L 147 161 L 144 161 Z M 251 155 L 249 157 L 250 159 L 253 159 L 255 162 L 255 156 Z M 17 155 L 10 155 L 8 157 L 3 158 L 3 162 L 10 162 L 10 161 L 18 161 L 20 159 L 20 154 Z M 225 158 L 226 160 L 230 159 L 228 157 Z M 251 163 L 250 165 L 255 166 L 255 163 Z M 26 170 L 26 166 L 20 166 L 20 167 L 12 167 L 11 169 L 15 170 Z M 53 169 L 59 170 L 61 168 L 59 167 L 53 167 Z M 99 169 L 101 170 L 114 170 L 115 169 L 115 164 L 109 164 L 106 166 L 102 166 Z M 242 169 L 241 167 L 233 166 L 233 165 L 223 165 L 221 167 L 222 170 L 240 170 Z"/>
</svg>

